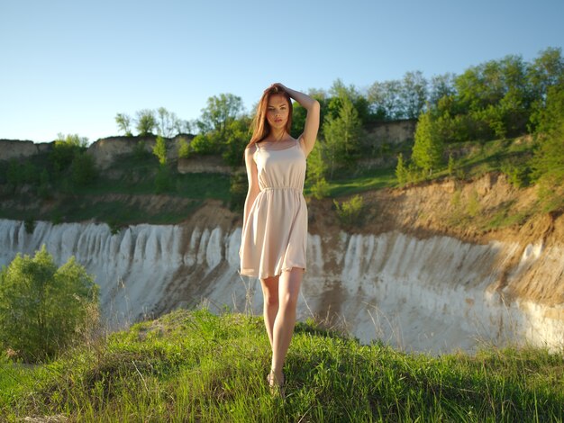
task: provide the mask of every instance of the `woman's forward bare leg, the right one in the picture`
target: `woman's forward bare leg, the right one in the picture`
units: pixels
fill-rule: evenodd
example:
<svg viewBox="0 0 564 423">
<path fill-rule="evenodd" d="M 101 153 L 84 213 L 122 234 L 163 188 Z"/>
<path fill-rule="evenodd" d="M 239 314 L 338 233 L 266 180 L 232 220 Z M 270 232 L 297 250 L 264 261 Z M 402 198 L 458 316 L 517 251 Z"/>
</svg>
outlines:
<svg viewBox="0 0 564 423">
<path fill-rule="evenodd" d="M 283 382 L 282 368 L 296 325 L 296 304 L 302 284 L 303 269 L 293 268 L 280 275 L 278 283 L 278 312 L 272 328 L 272 373 L 278 383 Z"/>
</svg>

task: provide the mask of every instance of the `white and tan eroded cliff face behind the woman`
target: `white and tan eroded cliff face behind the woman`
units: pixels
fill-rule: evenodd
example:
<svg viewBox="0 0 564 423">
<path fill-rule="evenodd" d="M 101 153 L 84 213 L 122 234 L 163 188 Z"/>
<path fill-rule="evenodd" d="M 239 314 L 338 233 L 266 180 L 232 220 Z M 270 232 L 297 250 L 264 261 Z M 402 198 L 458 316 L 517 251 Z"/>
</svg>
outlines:
<svg viewBox="0 0 564 423">
<path fill-rule="evenodd" d="M 380 218 L 361 230 L 339 229 L 323 202 L 310 203 L 298 318 L 324 320 L 363 342 L 432 353 L 472 351 L 482 342 L 562 347 L 562 217 L 498 231 L 497 238 L 465 236 L 464 227 L 449 233 L 439 230 L 446 223 L 437 213 L 425 216 L 442 194 L 429 193 L 406 211 L 425 189 L 376 193 Z M 448 189 L 429 189 L 444 191 L 446 204 Z M 259 282 L 238 274 L 240 226 L 239 215 L 214 202 L 179 225 L 136 225 L 114 235 L 105 224 L 40 221 L 27 233 L 23 222 L 0 220 L 0 264 L 41 244 L 59 263 L 74 255 L 96 275 L 114 329 L 201 302 L 261 314 Z"/>
</svg>

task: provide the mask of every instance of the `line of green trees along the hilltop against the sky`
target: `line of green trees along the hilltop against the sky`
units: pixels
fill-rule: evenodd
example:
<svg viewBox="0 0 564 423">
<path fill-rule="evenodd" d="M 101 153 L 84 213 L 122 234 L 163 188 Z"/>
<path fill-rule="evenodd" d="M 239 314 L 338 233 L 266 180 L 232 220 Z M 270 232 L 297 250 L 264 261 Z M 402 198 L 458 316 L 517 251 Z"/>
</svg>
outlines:
<svg viewBox="0 0 564 423">
<path fill-rule="evenodd" d="M 357 158 L 374 156 L 366 133 L 378 121 L 418 120 L 417 138 L 431 137 L 442 144 L 532 133 L 541 122 L 550 87 L 561 84 L 563 74 L 561 49 L 549 48 L 531 62 L 509 55 L 468 67 L 460 75 L 447 73 L 429 79 L 421 71 L 410 71 L 401 79 L 375 82 L 364 90 L 337 79 L 327 91 L 309 91 L 322 105 L 320 151 L 315 153 L 321 157 L 312 161 L 325 164 L 312 172 L 331 179 Z M 195 121 L 178 120 L 175 113 L 159 108 L 137 112 L 135 122 L 140 135 L 156 131 L 167 138 L 196 132 L 185 155 L 221 154 L 226 163 L 240 166 L 252 117 L 245 112 L 241 97 L 219 94 L 208 98 Z M 129 116 L 118 113 L 115 120 L 119 130 L 131 134 Z M 299 136 L 304 122 L 305 110 L 296 103 L 293 136 Z M 428 170 L 423 162 L 436 162 L 441 156 L 432 154 L 435 158 L 423 159 L 415 149 L 414 163 Z"/>
</svg>

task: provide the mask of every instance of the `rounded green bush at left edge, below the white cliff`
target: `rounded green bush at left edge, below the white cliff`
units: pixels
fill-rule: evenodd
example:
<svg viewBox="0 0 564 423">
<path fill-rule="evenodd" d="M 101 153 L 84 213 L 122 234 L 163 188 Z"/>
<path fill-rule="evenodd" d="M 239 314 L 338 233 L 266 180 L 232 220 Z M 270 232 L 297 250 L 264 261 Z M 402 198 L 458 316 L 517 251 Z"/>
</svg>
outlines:
<svg viewBox="0 0 564 423">
<path fill-rule="evenodd" d="M 56 356 L 77 338 L 98 289 L 70 257 L 57 268 L 45 249 L 17 255 L 0 273 L 0 345 L 27 362 Z"/>
</svg>

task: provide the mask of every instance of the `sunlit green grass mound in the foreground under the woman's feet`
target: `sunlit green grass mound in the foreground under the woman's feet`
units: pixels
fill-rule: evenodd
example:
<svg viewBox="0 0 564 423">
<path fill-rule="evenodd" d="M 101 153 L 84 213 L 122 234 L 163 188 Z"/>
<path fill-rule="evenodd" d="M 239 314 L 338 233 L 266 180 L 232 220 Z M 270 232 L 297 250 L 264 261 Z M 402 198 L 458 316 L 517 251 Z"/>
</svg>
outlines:
<svg viewBox="0 0 564 423">
<path fill-rule="evenodd" d="M 0 364 L 0 419 L 562 421 L 564 364 L 542 349 L 405 354 L 299 323 L 287 398 L 266 386 L 257 317 L 176 311 L 47 365 Z"/>
</svg>

